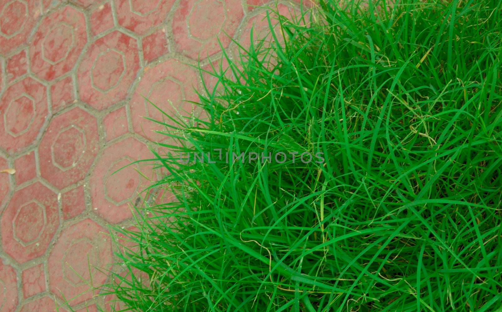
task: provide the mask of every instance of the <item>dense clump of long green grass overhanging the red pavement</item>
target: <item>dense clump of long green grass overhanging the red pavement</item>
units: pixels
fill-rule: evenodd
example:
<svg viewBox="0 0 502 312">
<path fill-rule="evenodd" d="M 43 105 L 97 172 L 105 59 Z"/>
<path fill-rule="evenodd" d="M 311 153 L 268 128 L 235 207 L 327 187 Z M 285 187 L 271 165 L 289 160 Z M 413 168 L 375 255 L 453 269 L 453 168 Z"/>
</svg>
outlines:
<svg viewBox="0 0 502 312">
<path fill-rule="evenodd" d="M 500 308 L 502 2 L 357 8 L 271 11 L 271 40 L 211 72 L 204 118 L 166 116 L 177 143 L 159 143 L 152 187 L 176 199 L 121 230 L 148 276 L 113 285 L 126 306 Z"/>
</svg>

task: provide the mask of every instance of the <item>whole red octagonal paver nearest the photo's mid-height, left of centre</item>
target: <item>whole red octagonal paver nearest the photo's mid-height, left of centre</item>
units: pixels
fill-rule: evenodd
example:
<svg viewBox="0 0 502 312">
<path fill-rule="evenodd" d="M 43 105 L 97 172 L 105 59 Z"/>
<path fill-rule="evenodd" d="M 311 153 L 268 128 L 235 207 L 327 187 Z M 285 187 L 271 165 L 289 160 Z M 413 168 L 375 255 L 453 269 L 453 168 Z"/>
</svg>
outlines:
<svg viewBox="0 0 502 312">
<path fill-rule="evenodd" d="M 75 107 L 55 117 L 39 146 L 42 177 L 59 189 L 82 180 L 98 151 L 96 118 Z"/>
</svg>

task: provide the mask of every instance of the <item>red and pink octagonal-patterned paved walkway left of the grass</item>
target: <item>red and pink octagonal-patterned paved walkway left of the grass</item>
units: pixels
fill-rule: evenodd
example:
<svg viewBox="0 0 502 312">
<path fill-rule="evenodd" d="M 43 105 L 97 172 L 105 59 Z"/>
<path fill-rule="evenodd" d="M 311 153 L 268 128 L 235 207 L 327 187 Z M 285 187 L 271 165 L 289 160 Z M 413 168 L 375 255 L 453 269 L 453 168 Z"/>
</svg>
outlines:
<svg viewBox="0 0 502 312">
<path fill-rule="evenodd" d="M 200 81 L 183 62 L 216 60 L 217 39 L 232 49 L 225 33 L 248 43 L 266 22 L 246 4 L 264 3 L 0 0 L 0 170 L 16 170 L 0 173 L 0 311 L 104 306 L 87 283 L 107 279 L 94 266 L 112 269 L 106 225 L 128 226 L 148 185 L 133 167 L 110 174 L 162 139 L 142 95 L 190 110 L 181 100 Z"/>
</svg>

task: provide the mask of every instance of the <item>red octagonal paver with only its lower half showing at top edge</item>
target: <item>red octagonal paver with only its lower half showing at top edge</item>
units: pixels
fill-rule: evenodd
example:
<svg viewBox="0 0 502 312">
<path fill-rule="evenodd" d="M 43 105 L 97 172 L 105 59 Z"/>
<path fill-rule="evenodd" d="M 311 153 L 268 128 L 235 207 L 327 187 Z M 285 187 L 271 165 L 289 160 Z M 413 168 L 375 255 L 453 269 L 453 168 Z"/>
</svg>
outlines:
<svg viewBox="0 0 502 312">
<path fill-rule="evenodd" d="M 115 0 L 118 24 L 138 34 L 161 24 L 174 0 Z"/>
</svg>

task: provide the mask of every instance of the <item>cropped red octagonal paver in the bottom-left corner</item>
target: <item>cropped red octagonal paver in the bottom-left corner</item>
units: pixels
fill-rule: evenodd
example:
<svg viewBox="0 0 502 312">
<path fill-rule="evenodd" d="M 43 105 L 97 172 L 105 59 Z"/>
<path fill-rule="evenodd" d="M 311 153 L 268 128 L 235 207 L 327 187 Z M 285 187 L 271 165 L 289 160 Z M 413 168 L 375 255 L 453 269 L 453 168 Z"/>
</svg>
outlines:
<svg viewBox="0 0 502 312">
<path fill-rule="evenodd" d="M 0 259 L 0 311 L 13 312 L 18 305 L 17 276 L 14 268 Z"/>
</svg>

